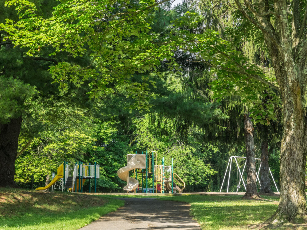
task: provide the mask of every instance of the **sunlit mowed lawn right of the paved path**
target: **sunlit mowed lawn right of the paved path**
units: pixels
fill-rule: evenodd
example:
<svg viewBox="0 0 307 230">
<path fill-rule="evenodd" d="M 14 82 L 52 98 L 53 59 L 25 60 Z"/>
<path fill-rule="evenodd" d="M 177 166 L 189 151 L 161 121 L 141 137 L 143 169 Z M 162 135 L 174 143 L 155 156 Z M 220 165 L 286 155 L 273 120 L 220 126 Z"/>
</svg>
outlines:
<svg viewBox="0 0 307 230">
<path fill-rule="evenodd" d="M 263 197 L 272 201 L 242 199 L 242 196 L 174 196 L 162 200 L 188 202 L 191 215 L 202 229 L 248 229 L 260 224 L 277 209 L 278 197 Z"/>
</svg>

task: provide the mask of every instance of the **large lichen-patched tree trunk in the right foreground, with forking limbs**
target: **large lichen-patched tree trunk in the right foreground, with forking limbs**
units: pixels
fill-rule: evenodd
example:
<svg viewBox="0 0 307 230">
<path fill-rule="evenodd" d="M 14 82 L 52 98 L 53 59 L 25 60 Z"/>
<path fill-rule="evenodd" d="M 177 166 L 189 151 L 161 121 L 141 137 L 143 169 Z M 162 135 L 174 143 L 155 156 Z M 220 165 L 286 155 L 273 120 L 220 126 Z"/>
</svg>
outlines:
<svg viewBox="0 0 307 230">
<path fill-rule="evenodd" d="M 258 1 L 257 15 L 255 11 L 246 13 L 241 2 L 239 0 L 235 2 L 243 15 L 263 32 L 282 97 L 280 200 L 276 213 L 267 222 L 272 224 L 287 221 L 307 222 L 305 194 L 307 40 L 305 35 L 301 36 L 304 30 L 299 31 L 299 27 L 302 26 L 299 18 L 301 3 L 292 1 L 291 7 L 289 1 L 274 0 L 275 16 L 272 17 L 268 0 Z M 244 2 L 247 5 L 249 1 Z M 248 9 L 253 11 L 251 5 L 248 5 Z M 252 14 L 254 16 L 251 16 Z M 291 16 L 292 25 L 289 20 Z"/>
</svg>

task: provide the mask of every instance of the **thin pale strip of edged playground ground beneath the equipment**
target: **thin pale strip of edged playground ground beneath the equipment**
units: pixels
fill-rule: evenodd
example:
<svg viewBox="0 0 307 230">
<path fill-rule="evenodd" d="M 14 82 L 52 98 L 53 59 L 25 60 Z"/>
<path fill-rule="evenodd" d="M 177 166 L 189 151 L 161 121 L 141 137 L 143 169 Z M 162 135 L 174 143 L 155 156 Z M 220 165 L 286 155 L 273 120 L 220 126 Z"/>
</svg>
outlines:
<svg viewBox="0 0 307 230">
<path fill-rule="evenodd" d="M 199 195 L 199 196 L 233 196 L 239 195 L 243 196 L 245 193 L 219 193 L 219 192 L 208 192 L 208 193 L 86 193 L 90 195 L 109 195 L 109 196 L 190 196 L 190 195 Z M 275 193 L 279 195 L 280 193 Z"/>
</svg>

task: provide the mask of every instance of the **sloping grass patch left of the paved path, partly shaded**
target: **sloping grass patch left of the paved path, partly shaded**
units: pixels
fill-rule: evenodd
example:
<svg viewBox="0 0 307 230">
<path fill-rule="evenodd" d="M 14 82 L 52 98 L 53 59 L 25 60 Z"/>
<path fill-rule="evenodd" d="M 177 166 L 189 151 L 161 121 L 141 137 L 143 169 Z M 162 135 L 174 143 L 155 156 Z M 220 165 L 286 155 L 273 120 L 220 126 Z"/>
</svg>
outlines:
<svg viewBox="0 0 307 230">
<path fill-rule="evenodd" d="M 96 195 L 0 189 L 0 229 L 79 229 L 123 205 Z"/>
</svg>

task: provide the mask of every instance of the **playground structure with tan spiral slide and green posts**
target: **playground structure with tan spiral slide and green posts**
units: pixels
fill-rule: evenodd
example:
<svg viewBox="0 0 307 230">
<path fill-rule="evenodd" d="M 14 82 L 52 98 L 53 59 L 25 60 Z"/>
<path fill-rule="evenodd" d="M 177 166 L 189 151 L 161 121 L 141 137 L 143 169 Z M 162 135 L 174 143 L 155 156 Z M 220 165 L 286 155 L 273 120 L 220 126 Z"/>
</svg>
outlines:
<svg viewBox="0 0 307 230">
<path fill-rule="evenodd" d="M 120 168 L 117 171 L 117 175 L 120 179 L 127 182 L 127 185 L 123 188 L 127 192 L 137 191 L 141 193 L 165 193 L 168 190 L 171 193 L 181 193 L 185 188 L 185 182 L 173 172 L 173 158 L 172 165 L 164 165 L 164 157 L 161 164 L 157 163 L 157 152 L 151 151 L 149 154 L 127 154 L 127 166 Z M 129 171 L 132 171 L 134 177 L 129 176 Z M 144 175 L 145 174 L 145 175 Z M 141 175 L 142 180 L 138 180 L 138 175 Z M 148 179 L 152 178 L 152 189 L 148 188 Z M 144 186 L 144 179 L 146 179 L 146 189 Z M 176 183 L 174 182 L 176 181 Z M 156 187 L 154 184 L 156 183 Z"/>
</svg>

